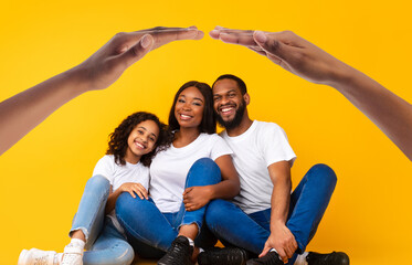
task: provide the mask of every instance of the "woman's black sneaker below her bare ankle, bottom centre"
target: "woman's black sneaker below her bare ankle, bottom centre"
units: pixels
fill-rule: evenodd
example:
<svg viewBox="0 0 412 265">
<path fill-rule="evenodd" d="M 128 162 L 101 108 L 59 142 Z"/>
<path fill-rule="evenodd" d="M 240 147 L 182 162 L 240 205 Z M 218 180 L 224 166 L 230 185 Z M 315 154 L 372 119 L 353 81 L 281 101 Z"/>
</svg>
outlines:
<svg viewBox="0 0 412 265">
<path fill-rule="evenodd" d="M 193 265 L 191 257 L 193 254 L 193 246 L 189 244 L 186 236 L 178 236 L 171 243 L 169 251 L 160 258 L 158 265 Z"/>
</svg>

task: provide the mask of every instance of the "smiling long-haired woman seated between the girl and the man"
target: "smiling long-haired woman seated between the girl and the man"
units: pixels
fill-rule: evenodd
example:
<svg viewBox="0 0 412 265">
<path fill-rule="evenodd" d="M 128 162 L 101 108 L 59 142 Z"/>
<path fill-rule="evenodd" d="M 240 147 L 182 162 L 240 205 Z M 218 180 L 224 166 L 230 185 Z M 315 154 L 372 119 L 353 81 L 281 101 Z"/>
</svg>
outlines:
<svg viewBox="0 0 412 265">
<path fill-rule="evenodd" d="M 116 216 L 138 255 L 159 257 L 160 250 L 167 254 L 158 264 L 189 265 L 196 261 L 199 246 L 215 243 L 202 231 L 205 205 L 213 199 L 235 197 L 240 182 L 232 151 L 215 134 L 208 84 L 193 81 L 180 87 L 169 127 L 175 134 L 172 144 L 150 167 L 150 199 L 123 193 Z"/>
</svg>

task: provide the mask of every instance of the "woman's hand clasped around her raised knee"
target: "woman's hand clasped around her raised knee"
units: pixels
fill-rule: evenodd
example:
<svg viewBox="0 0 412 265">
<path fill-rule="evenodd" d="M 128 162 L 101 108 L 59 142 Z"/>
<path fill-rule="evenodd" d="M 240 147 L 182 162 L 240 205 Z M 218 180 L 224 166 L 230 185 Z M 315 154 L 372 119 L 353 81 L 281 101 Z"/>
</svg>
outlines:
<svg viewBox="0 0 412 265">
<path fill-rule="evenodd" d="M 211 200 L 211 189 L 209 186 L 190 187 L 183 192 L 183 203 L 187 211 L 198 210 Z"/>
</svg>

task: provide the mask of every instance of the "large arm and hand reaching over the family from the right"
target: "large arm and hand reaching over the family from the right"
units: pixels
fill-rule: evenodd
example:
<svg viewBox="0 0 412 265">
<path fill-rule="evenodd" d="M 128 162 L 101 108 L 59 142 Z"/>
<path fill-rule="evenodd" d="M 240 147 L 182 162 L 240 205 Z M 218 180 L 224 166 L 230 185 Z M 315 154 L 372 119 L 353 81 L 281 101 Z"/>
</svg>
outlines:
<svg viewBox="0 0 412 265">
<path fill-rule="evenodd" d="M 293 32 L 230 30 L 213 39 L 240 44 L 309 82 L 335 87 L 412 160 L 412 105 L 382 85 Z"/>
</svg>

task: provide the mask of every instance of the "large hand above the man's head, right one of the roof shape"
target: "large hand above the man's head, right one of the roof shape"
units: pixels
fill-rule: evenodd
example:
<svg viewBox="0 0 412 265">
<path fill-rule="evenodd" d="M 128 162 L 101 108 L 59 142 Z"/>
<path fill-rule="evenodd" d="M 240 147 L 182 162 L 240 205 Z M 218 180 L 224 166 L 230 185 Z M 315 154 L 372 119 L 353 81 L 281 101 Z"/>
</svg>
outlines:
<svg viewBox="0 0 412 265">
<path fill-rule="evenodd" d="M 290 31 L 263 32 L 216 26 L 213 39 L 240 44 L 266 56 L 275 64 L 309 82 L 334 83 L 348 65 Z"/>
</svg>

